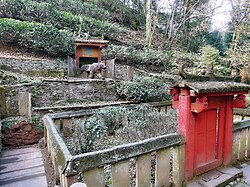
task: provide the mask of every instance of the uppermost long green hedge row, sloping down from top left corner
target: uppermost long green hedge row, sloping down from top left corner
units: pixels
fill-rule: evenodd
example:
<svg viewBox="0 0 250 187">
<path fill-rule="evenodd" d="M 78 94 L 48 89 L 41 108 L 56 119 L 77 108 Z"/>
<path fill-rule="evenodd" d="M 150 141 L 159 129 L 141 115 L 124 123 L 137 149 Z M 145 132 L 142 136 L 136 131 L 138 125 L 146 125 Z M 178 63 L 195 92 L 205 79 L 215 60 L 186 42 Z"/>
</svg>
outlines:
<svg viewBox="0 0 250 187">
<path fill-rule="evenodd" d="M 79 35 L 84 32 L 91 32 L 91 35 L 109 35 L 118 33 L 120 28 L 107 21 L 100 21 L 91 17 L 74 15 L 71 12 L 60 11 L 58 8 L 49 3 L 38 3 L 26 0 L 4 1 L 2 15 L 3 17 L 15 18 L 25 21 L 36 21 L 43 24 L 50 24 L 59 29 L 67 29 L 77 32 Z M 12 7 L 17 3 L 18 8 Z M 18 13 L 17 13 L 18 12 Z"/>
</svg>

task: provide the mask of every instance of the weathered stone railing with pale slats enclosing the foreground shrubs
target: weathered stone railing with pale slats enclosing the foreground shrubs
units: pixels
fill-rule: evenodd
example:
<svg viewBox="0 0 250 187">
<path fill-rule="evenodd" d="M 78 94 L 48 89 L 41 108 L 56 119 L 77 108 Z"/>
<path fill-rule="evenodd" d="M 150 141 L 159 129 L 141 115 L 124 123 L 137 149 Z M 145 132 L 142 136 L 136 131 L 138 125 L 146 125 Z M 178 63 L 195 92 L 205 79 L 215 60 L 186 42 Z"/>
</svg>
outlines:
<svg viewBox="0 0 250 187">
<path fill-rule="evenodd" d="M 159 106 L 157 106 L 159 107 Z M 166 107 L 160 105 L 162 111 Z M 119 145 L 111 149 L 72 155 L 60 130 L 71 123 L 72 118 L 92 115 L 96 109 L 45 115 L 45 141 L 55 168 L 57 181 L 69 187 L 83 176 L 88 187 L 130 186 L 181 186 L 184 181 L 184 139 L 179 134 L 169 134 L 140 142 Z M 106 168 L 110 167 L 107 175 Z M 135 177 L 131 178 L 131 172 Z M 152 178 L 152 176 L 154 176 Z"/>
</svg>

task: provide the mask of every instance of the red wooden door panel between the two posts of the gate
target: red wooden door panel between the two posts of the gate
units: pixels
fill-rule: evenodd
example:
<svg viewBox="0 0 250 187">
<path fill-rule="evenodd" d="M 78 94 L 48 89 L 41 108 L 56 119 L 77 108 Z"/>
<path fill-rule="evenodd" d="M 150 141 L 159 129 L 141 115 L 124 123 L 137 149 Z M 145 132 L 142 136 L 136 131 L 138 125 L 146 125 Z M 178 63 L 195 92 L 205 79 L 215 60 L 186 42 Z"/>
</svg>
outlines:
<svg viewBox="0 0 250 187">
<path fill-rule="evenodd" d="M 223 126 L 225 100 L 208 98 L 206 112 L 194 114 L 195 118 L 195 174 L 216 168 L 222 164 Z"/>
</svg>

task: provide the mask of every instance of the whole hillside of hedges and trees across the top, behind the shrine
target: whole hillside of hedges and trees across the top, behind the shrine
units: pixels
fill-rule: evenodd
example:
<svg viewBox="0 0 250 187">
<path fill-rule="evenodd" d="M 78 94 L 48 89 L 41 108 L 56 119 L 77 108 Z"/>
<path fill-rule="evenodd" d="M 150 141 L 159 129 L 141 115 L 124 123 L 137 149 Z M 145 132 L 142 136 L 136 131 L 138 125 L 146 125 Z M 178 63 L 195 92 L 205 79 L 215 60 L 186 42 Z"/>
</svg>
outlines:
<svg viewBox="0 0 250 187">
<path fill-rule="evenodd" d="M 248 32 L 234 39 L 230 33 L 238 31 L 231 27 L 223 33 L 211 31 L 210 1 L 191 8 L 173 4 L 173 12 L 158 11 L 158 3 L 152 1 L 151 5 L 149 46 L 145 1 L 2 0 L 0 39 L 5 49 L 1 47 L 1 55 L 16 51 L 19 57 L 32 54 L 65 61 L 74 53 L 75 38 L 89 32 L 110 41 L 102 51 L 103 59 L 115 58 L 117 63 L 149 72 L 176 74 L 178 66 L 186 63 L 192 73 L 197 73 L 202 66 L 209 68 L 213 63 L 216 74 L 230 75 L 231 68 L 247 63 Z M 182 11 L 185 8 L 190 8 L 188 15 Z M 199 16 L 197 11 L 208 16 Z M 235 45 L 238 47 L 232 48 Z"/>
</svg>

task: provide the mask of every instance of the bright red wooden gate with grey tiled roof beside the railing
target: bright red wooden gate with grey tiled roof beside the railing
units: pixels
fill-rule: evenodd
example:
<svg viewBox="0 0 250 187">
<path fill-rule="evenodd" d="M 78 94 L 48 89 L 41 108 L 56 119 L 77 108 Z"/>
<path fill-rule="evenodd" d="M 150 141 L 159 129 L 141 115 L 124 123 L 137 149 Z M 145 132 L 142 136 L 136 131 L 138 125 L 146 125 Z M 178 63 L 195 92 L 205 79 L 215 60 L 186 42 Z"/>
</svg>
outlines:
<svg viewBox="0 0 250 187">
<path fill-rule="evenodd" d="M 233 108 L 245 106 L 249 85 L 183 82 L 170 89 L 178 131 L 186 139 L 185 179 L 228 165 L 232 155 Z"/>
</svg>

